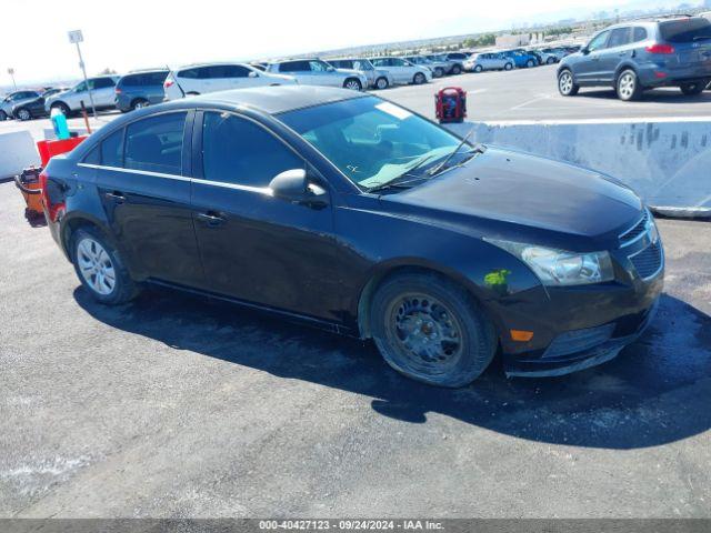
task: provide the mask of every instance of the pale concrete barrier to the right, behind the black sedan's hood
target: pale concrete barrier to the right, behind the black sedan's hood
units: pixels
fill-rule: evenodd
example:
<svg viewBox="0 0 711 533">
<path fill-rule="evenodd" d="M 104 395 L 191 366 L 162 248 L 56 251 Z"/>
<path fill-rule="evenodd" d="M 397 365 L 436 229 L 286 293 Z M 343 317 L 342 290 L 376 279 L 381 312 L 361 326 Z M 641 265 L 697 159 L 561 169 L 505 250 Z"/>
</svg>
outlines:
<svg viewBox="0 0 711 533">
<path fill-rule="evenodd" d="M 658 212 L 711 217 L 711 121 L 464 122 L 477 142 L 560 159 L 622 180 Z"/>
</svg>

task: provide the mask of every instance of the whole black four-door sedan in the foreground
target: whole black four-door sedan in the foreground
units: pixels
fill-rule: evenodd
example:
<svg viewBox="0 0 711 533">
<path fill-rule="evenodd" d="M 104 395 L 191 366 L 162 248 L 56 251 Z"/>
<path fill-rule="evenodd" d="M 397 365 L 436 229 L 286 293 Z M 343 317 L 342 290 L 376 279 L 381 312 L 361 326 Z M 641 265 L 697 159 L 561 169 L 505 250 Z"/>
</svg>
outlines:
<svg viewBox="0 0 711 533">
<path fill-rule="evenodd" d="M 99 302 L 170 285 L 373 339 L 460 386 L 610 360 L 653 315 L 650 212 L 597 172 L 471 144 L 380 98 L 244 89 L 119 118 L 43 177 Z"/>
</svg>

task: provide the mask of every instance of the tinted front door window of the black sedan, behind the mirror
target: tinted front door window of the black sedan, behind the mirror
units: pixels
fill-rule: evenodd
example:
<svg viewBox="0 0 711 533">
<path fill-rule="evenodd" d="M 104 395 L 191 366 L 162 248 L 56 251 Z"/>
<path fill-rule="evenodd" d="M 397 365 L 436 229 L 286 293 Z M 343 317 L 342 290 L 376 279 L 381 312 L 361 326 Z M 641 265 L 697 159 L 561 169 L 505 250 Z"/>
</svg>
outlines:
<svg viewBox="0 0 711 533">
<path fill-rule="evenodd" d="M 206 180 L 263 188 L 278 173 L 303 165 L 301 158 L 260 125 L 229 113 L 204 113 Z"/>
</svg>

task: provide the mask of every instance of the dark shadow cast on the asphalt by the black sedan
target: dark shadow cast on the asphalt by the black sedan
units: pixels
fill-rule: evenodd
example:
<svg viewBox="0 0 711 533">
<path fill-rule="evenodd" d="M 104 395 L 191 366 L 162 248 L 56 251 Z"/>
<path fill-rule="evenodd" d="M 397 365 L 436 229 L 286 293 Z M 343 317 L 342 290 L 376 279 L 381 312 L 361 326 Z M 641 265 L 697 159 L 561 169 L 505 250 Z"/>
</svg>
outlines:
<svg viewBox="0 0 711 533">
<path fill-rule="evenodd" d="M 90 315 L 120 330 L 362 394 L 381 415 L 410 423 L 441 413 L 520 439 L 603 449 L 655 446 L 711 428 L 711 318 L 667 294 L 645 335 L 614 361 L 561 378 L 507 379 L 495 360 L 459 390 L 401 376 L 371 342 L 221 302 L 168 290 L 147 291 L 118 308 L 96 303 L 82 288 L 74 298 Z"/>
</svg>

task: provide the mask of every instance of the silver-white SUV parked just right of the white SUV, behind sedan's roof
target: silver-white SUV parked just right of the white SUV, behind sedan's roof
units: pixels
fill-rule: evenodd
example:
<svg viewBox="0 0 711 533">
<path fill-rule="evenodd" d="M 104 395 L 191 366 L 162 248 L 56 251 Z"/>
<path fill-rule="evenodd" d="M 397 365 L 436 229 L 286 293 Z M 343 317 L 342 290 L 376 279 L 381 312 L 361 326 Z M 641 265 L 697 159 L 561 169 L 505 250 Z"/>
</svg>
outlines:
<svg viewBox="0 0 711 533">
<path fill-rule="evenodd" d="M 368 87 L 368 78 L 350 69 L 336 69 L 320 59 L 290 59 L 269 63 L 267 72 L 290 74 L 303 86 L 342 87 L 360 91 Z"/>
</svg>

